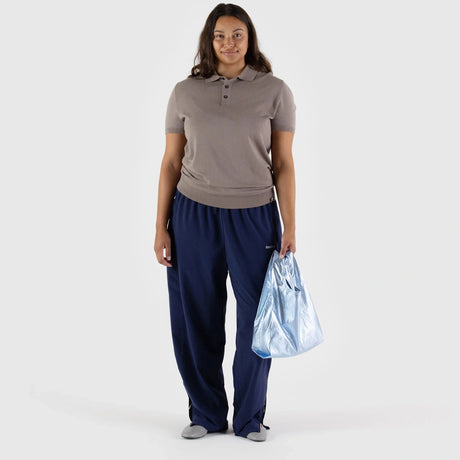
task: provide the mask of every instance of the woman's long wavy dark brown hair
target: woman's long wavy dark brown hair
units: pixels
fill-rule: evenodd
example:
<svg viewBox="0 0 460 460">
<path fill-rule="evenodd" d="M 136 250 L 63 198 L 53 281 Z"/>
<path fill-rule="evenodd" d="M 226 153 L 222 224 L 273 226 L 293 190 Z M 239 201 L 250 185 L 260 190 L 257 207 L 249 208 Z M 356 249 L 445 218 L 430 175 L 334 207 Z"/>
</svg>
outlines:
<svg viewBox="0 0 460 460">
<path fill-rule="evenodd" d="M 209 13 L 204 28 L 201 31 L 198 51 L 193 62 L 196 63 L 197 59 L 199 61 L 198 64 L 192 67 L 188 78 L 208 78 L 216 72 L 218 59 L 214 54 L 212 42 L 214 40 L 214 27 L 220 16 L 234 16 L 246 24 L 248 28 L 248 50 L 244 56 L 246 64 L 249 64 L 259 72 L 271 72 L 270 61 L 259 50 L 256 29 L 248 13 L 241 6 L 234 5 L 233 3 L 219 3 Z"/>
</svg>

